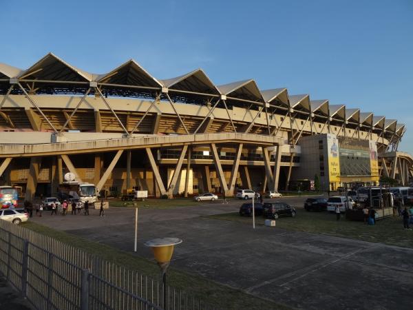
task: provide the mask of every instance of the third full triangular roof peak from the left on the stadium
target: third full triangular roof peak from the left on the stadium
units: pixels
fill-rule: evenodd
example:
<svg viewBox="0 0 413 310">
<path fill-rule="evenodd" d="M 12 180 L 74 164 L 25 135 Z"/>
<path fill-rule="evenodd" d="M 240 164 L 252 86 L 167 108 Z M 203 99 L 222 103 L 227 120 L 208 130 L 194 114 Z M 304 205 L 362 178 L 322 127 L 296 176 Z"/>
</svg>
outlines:
<svg viewBox="0 0 413 310">
<path fill-rule="evenodd" d="M 160 82 L 171 90 L 183 90 L 186 92 L 199 92 L 215 95 L 220 94 L 218 88 L 212 83 L 202 69 L 196 69 L 182 76 L 161 80 Z"/>
</svg>

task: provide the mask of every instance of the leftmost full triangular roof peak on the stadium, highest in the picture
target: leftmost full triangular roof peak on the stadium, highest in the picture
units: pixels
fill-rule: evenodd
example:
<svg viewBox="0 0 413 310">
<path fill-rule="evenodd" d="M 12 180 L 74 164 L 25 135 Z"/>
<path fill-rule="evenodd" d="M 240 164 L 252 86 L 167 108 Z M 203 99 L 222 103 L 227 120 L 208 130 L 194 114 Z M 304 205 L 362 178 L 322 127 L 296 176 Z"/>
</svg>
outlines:
<svg viewBox="0 0 413 310">
<path fill-rule="evenodd" d="M 90 82 L 94 75 L 79 70 L 58 56 L 49 53 L 17 77 L 40 81 Z"/>
</svg>

